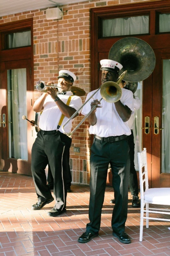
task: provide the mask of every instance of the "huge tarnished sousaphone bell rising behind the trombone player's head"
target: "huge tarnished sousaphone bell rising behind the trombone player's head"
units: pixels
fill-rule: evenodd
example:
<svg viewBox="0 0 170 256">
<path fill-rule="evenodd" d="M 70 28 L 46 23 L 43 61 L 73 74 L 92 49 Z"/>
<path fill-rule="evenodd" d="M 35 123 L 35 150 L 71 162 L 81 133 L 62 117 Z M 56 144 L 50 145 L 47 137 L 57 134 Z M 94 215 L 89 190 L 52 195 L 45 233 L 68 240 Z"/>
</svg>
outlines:
<svg viewBox="0 0 170 256">
<path fill-rule="evenodd" d="M 155 54 L 149 44 L 136 37 L 125 37 L 112 45 L 108 58 L 122 64 L 127 70 L 124 80 L 139 82 L 150 76 L 155 68 Z"/>
</svg>

